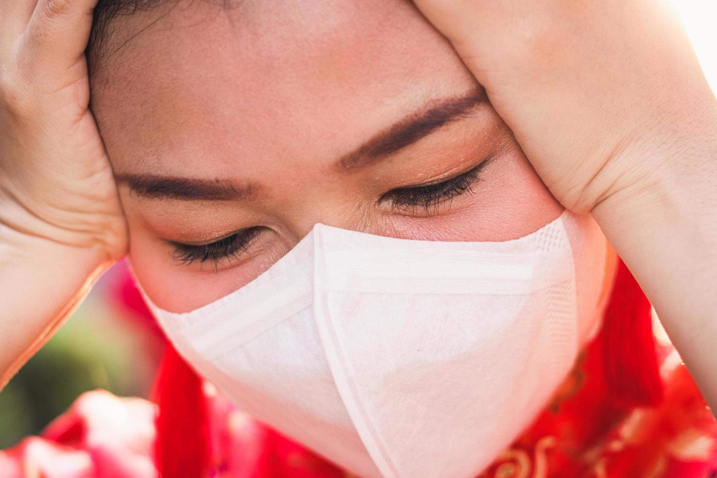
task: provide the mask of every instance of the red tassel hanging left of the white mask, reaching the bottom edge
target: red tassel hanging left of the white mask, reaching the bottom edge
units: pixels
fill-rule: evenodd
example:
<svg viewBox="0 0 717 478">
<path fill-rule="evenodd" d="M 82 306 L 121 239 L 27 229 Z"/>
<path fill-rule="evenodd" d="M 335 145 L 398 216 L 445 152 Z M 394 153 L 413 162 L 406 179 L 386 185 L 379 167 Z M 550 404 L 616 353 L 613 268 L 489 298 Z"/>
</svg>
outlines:
<svg viewBox="0 0 717 478">
<path fill-rule="evenodd" d="M 166 344 L 153 386 L 155 461 L 162 478 L 209 477 L 209 416 L 202 380 Z"/>
</svg>

